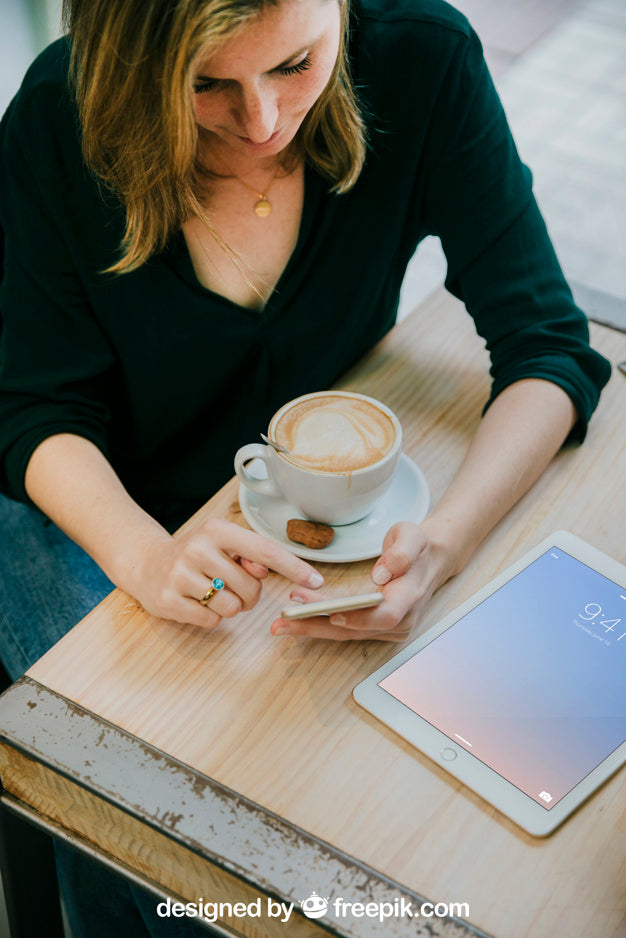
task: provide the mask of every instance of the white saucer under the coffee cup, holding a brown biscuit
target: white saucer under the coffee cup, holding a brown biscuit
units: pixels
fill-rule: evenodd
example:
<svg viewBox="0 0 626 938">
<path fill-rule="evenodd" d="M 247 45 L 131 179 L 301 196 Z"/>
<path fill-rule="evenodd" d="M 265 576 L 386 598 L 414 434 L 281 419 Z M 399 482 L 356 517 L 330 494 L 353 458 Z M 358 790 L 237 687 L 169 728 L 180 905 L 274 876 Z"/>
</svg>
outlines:
<svg viewBox="0 0 626 938">
<path fill-rule="evenodd" d="M 248 468 L 251 467 L 252 464 Z M 240 485 L 239 504 L 254 531 L 283 544 L 292 554 L 306 560 L 346 563 L 378 557 L 383 538 L 396 521 L 413 521 L 416 524 L 423 521 L 430 505 L 430 492 L 424 473 L 402 453 L 391 487 L 373 511 L 354 524 L 338 525 L 334 541 L 323 550 L 311 550 L 289 540 L 287 522 L 290 518 L 302 517 L 302 513 L 284 498 L 259 495 Z"/>
</svg>

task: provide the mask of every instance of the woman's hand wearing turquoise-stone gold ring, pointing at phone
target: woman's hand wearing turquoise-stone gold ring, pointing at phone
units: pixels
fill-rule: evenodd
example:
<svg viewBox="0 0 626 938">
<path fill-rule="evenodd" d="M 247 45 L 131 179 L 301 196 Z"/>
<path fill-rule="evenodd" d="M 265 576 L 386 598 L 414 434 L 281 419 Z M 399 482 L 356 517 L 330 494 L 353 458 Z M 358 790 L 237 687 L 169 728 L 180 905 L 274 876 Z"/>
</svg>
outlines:
<svg viewBox="0 0 626 938">
<path fill-rule="evenodd" d="M 151 541 L 126 587 L 146 612 L 205 629 L 251 609 L 269 570 L 298 586 L 318 589 L 323 577 L 285 547 L 230 521 L 210 518 L 184 534 Z M 224 589 L 200 600 L 219 577 Z M 126 577 L 125 577 L 126 579 Z"/>
</svg>

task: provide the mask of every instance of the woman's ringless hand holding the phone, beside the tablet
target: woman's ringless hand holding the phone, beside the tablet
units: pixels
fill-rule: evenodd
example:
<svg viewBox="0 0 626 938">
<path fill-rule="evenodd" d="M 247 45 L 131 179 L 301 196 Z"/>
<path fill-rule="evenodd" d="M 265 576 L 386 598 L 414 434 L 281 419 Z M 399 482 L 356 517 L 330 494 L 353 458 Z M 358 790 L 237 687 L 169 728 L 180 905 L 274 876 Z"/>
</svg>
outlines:
<svg viewBox="0 0 626 938">
<path fill-rule="evenodd" d="M 273 635 L 304 635 L 336 641 L 378 639 L 402 642 L 408 638 L 420 612 L 434 591 L 452 572 L 452 561 L 429 535 L 426 526 L 401 521 L 389 529 L 383 552 L 372 568 L 372 581 L 385 597 L 370 609 L 316 616 L 311 619 L 276 619 Z M 332 599 L 316 590 L 296 587 L 293 602 Z"/>
</svg>

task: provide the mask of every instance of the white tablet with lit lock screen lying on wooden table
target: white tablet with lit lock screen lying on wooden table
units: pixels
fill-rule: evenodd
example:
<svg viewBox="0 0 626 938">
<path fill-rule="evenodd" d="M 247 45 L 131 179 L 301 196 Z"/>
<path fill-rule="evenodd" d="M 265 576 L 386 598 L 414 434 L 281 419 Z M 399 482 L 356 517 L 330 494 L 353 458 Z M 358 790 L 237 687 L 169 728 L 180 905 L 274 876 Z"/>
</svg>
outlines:
<svg viewBox="0 0 626 938">
<path fill-rule="evenodd" d="M 626 761 L 626 567 L 559 531 L 353 693 L 543 837 Z"/>
</svg>

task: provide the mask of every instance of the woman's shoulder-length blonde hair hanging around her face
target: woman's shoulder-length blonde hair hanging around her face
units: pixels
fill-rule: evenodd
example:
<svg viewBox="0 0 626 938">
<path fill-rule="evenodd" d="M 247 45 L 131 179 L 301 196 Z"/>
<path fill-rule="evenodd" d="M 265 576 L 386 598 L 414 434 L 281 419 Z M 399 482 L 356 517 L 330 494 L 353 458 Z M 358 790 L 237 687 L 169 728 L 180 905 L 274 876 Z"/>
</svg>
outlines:
<svg viewBox="0 0 626 938">
<path fill-rule="evenodd" d="M 193 66 L 200 52 L 280 2 L 287 0 L 64 0 L 83 159 L 126 210 L 111 272 L 139 267 L 194 216 L 224 246 L 200 197 Z M 337 61 L 296 139 L 332 189 L 345 192 L 364 163 L 365 126 L 348 68 L 349 0 L 337 2 Z"/>
</svg>

